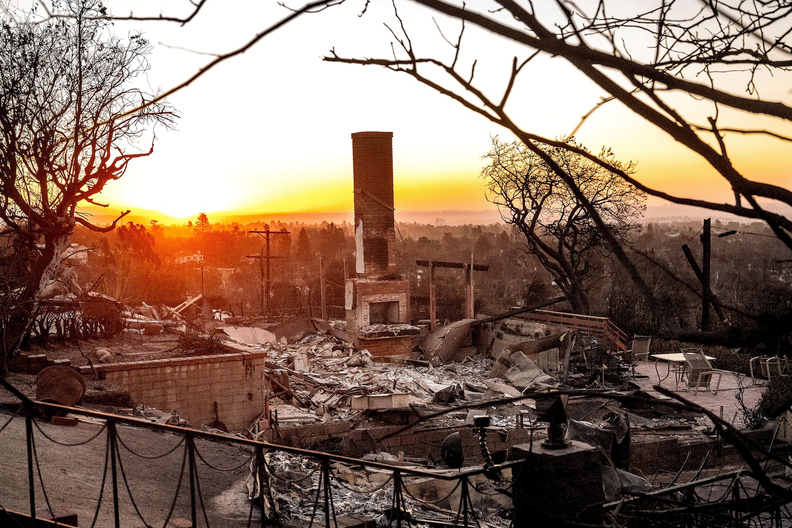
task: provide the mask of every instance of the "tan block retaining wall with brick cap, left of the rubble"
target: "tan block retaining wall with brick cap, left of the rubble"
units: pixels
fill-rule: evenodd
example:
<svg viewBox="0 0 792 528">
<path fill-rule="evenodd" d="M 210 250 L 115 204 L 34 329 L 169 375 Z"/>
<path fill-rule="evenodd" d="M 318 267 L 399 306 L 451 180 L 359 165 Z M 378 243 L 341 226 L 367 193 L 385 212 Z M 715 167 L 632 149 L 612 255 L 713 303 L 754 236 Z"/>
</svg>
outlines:
<svg viewBox="0 0 792 528">
<path fill-rule="evenodd" d="M 154 359 L 97 365 L 105 379 L 131 393 L 140 404 L 163 412 L 177 408 L 193 426 L 217 417 L 231 432 L 245 430 L 264 411 L 266 351 Z M 80 367 L 90 375 L 90 367 Z"/>
</svg>

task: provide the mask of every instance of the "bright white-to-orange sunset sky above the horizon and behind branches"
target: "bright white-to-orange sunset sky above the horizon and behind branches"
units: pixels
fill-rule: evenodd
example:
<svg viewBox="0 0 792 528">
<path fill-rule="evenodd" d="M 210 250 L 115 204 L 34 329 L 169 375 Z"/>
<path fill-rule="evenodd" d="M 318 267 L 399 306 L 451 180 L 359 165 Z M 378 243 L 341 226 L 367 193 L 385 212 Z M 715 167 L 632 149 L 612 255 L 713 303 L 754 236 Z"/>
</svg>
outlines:
<svg viewBox="0 0 792 528">
<path fill-rule="evenodd" d="M 123 2 L 106 4 L 124 12 Z M 284 16 L 273 6 L 258 12 L 250 2 L 208 2 L 215 9 L 221 4 L 222 11 L 204 13 L 185 28 L 131 26 L 143 28 L 155 45 L 151 86 L 174 85 L 207 60 L 159 43 L 224 51 L 259 30 L 262 21 Z M 360 6 L 352 4 L 304 17 L 177 93 L 170 101 L 181 112 L 178 130 L 156 131 L 154 154 L 134 161 L 99 201 L 111 203 L 111 211 L 140 207 L 184 218 L 199 211 L 351 211 L 350 134 L 393 131 L 397 210 L 491 208 L 478 176 L 482 155 L 489 150 L 490 135 L 508 140 L 507 132 L 406 75 L 319 59 L 331 47 L 339 55 L 387 56 L 392 37 L 379 23 L 390 17 L 386 4 L 372 2 L 364 17 L 356 16 Z M 408 27 L 426 36 L 426 42 L 416 42 L 425 46 L 425 55 L 447 57 L 431 17 L 409 4 L 402 9 Z M 117 32 L 123 34 L 126 27 L 117 25 Z M 525 51 L 472 29 L 468 35 L 468 49 L 486 59 L 478 63 L 477 79 L 497 96 L 512 53 Z M 529 131 L 550 138 L 568 134 L 602 94 L 560 59 L 536 63 L 516 85 L 507 109 Z M 790 83 L 784 81 L 772 80 L 768 91 L 788 101 Z M 672 101 L 676 108 L 697 112 L 697 123 L 711 114 L 711 108 L 697 107 L 687 97 Z M 733 117 L 737 124 L 745 119 Z M 767 125 L 752 120 L 752 126 Z M 786 133 L 792 135 L 788 125 Z M 694 154 L 618 103 L 595 112 L 577 139 L 590 150 L 612 146 L 618 158 L 637 161 L 638 177 L 648 184 L 684 196 L 731 196 Z M 766 137 L 728 139 L 731 158 L 748 177 L 792 187 L 788 144 Z"/>
</svg>

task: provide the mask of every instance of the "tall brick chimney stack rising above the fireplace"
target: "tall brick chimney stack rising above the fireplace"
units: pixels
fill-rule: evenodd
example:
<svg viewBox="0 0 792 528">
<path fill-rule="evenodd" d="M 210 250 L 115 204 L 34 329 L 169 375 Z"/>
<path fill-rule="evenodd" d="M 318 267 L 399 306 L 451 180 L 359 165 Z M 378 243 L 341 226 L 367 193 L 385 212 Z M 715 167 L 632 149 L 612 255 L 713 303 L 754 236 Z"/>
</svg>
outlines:
<svg viewBox="0 0 792 528">
<path fill-rule="evenodd" d="M 396 273 L 394 233 L 393 132 L 352 134 L 352 174 L 355 192 L 355 229 L 363 220 L 364 272 L 379 279 Z"/>
</svg>

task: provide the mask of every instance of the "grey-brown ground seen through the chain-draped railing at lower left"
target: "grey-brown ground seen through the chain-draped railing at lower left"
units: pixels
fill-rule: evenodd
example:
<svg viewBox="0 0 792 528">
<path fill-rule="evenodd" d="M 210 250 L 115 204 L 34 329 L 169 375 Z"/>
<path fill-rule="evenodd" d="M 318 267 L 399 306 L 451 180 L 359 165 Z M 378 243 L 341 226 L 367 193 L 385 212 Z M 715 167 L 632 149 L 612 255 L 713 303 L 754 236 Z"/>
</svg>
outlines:
<svg viewBox="0 0 792 528">
<path fill-rule="evenodd" d="M 27 450 L 25 448 L 25 419 L 12 419 L 8 412 L 0 412 L 0 506 L 16 511 L 29 511 Z M 53 507 L 68 507 L 78 515 L 80 526 L 91 526 L 100 496 L 102 473 L 105 468 L 107 435 L 99 421 L 86 419 L 76 427 L 36 421 L 33 426 L 42 480 Z M 37 426 L 37 427 L 36 427 Z M 93 438 L 95 437 L 95 438 Z M 93 438 L 93 439 L 92 439 Z M 143 519 L 151 526 L 162 526 L 177 492 L 182 460 L 185 456 L 181 438 L 142 428 L 118 426 L 120 463 L 124 467 L 131 496 Z M 63 446 L 59 443 L 72 444 Z M 175 449 L 174 449 L 175 448 Z M 249 501 L 244 479 L 248 473 L 249 454 L 238 446 L 196 440 L 200 492 L 204 497 L 208 526 L 246 526 Z M 170 454 L 166 454 L 169 451 Z M 165 456 L 161 456 L 165 454 Z M 143 456 L 138 456 L 143 455 Z M 160 457 L 160 458 L 144 458 Z M 219 471 L 211 469 L 215 466 Z M 178 492 L 174 516 L 190 519 L 190 490 L 188 469 Z M 106 477 L 105 494 L 96 526 L 112 526 L 112 484 L 110 469 Z M 46 508 L 41 485 L 36 479 L 36 509 Z M 119 471 L 121 526 L 146 526 L 135 512 Z M 200 525 L 204 525 L 200 503 Z M 257 509 L 253 518 L 259 519 Z M 260 522 L 260 521 L 259 521 Z M 254 523 L 255 526 L 255 523 Z"/>
</svg>

